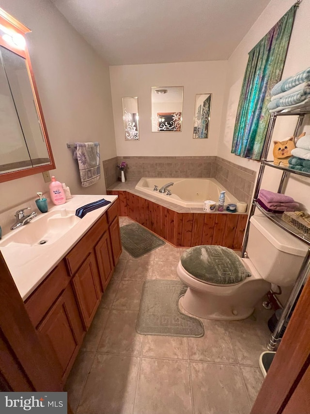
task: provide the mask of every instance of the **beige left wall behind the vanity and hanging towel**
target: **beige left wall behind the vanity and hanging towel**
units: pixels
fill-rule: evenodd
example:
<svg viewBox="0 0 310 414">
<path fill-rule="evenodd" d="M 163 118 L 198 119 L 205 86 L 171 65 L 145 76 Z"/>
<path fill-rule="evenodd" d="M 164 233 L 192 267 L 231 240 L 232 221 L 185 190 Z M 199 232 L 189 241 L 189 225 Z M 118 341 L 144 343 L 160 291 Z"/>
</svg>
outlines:
<svg viewBox="0 0 310 414">
<path fill-rule="evenodd" d="M 1 0 L 0 7 L 32 30 L 27 44 L 56 162 L 51 175 L 73 194 L 105 194 L 103 168 L 99 182 L 81 187 L 66 142 L 99 141 L 101 160 L 116 156 L 109 66 L 50 1 Z M 48 192 L 42 174 L 1 183 L 0 213 L 27 205 L 37 191 Z"/>
</svg>

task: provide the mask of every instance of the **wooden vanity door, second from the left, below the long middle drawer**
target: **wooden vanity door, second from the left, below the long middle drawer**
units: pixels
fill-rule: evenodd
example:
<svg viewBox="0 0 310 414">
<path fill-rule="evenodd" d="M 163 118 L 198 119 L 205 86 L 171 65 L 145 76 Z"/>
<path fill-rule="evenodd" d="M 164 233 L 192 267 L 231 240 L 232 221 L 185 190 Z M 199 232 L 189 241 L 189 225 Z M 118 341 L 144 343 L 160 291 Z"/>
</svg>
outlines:
<svg viewBox="0 0 310 414">
<path fill-rule="evenodd" d="M 93 252 L 81 265 L 72 283 L 85 327 L 89 328 L 102 296 Z"/>
</svg>

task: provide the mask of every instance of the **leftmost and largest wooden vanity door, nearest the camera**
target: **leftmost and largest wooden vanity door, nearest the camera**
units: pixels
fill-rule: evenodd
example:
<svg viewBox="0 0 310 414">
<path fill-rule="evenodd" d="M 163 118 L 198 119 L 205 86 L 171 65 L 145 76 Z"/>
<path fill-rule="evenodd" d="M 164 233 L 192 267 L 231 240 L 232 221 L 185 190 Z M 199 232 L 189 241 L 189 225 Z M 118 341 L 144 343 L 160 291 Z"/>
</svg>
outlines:
<svg viewBox="0 0 310 414">
<path fill-rule="evenodd" d="M 38 332 L 46 345 L 57 377 L 64 381 L 84 335 L 78 306 L 70 285 L 40 323 Z"/>
</svg>

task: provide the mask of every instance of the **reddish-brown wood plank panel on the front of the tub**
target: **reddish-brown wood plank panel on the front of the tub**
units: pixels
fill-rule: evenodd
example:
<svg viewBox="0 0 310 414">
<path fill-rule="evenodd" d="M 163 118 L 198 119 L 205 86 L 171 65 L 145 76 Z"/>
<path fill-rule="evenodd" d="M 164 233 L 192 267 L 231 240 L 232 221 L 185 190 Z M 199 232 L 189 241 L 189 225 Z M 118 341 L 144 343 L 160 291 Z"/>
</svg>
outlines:
<svg viewBox="0 0 310 414">
<path fill-rule="evenodd" d="M 220 245 L 242 248 L 248 215 L 232 213 L 178 213 L 128 191 L 119 196 L 120 215 L 129 216 L 177 247 Z"/>
</svg>

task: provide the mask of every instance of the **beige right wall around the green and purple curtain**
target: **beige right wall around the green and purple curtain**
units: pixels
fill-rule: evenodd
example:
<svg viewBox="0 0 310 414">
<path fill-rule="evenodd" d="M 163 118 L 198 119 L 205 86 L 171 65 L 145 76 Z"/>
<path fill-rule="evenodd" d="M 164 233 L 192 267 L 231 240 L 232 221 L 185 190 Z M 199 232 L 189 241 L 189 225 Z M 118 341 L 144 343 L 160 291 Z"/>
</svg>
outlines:
<svg viewBox="0 0 310 414">
<path fill-rule="evenodd" d="M 228 60 L 227 84 L 224 100 L 225 105 L 223 108 L 218 155 L 233 163 L 239 164 L 240 166 L 245 166 L 256 171 L 259 169 L 259 162 L 247 160 L 231 154 L 233 127 L 243 76 L 248 62 L 248 52 L 286 13 L 294 2 L 294 0 L 271 1 Z M 310 31 L 305 30 L 305 28 L 309 25 L 309 19 L 310 0 L 303 0 L 296 12 L 291 42 L 283 71 L 283 79 L 310 66 Z M 292 135 L 295 123 L 296 117 L 290 117 L 290 119 L 278 119 L 273 138 L 283 141 L 286 137 Z M 308 118 L 306 121 L 305 131 L 309 130 Z M 271 151 L 268 159 L 272 159 Z M 266 173 L 263 179 L 263 188 L 271 191 L 277 191 L 281 173 L 274 168 L 266 168 L 265 171 Z M 293 177 L 294 178 L 291 178 L 288 182 L 286 194 L 290 194 L 297 201 L 304 203 L 304 205 L 306 207 L 308 206 L 309 209 L 310 191 L 309 187 L 307 188 L 303 182 L 308 182 L 309 184 L 310 179 L 297 178 L 297 176 Z"/>
</svg>

